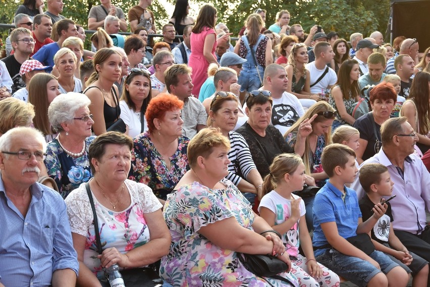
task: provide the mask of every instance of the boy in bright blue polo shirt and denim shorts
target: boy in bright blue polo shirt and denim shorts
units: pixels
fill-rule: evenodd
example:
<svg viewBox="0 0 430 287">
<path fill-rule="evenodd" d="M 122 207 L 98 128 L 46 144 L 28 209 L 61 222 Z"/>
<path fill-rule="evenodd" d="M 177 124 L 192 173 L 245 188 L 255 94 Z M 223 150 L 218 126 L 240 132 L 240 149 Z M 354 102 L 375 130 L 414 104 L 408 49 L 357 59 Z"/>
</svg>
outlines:
<svg viewBox="0 0 430 287">
<path fill-rule="evenodd" d="M 324 149 L 321 164 L 329 182 L 316 194 L 313 205 L 312 245 L 316 261 L 358 286 L 406 286 L 408 274 L 387 255 L 380 251 L 367 255 L 347 241 L 370 232 L 387 207 L 378 203 L 372 208 L 374 214 L 365 222 L 361 220 L 357 194 L 345 186 L 357 175 L 355 152 L 333 143 Z"/>
</svg>

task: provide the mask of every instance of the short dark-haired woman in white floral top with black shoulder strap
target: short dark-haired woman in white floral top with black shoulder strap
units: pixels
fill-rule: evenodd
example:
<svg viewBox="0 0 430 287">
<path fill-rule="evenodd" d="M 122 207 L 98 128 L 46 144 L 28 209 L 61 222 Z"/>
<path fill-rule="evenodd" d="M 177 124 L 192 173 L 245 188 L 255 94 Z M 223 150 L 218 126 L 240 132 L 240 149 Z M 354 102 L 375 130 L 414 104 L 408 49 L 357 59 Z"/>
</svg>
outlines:
<svg viewBox="0 0 430 287">
<path fill-rule="evenodd" d="M 88 151 L 94 177 L 66 198 L 73 247 L 78 254 L 80 286 L 100 286 L 100 281 L 105 286 L 102 268 L 114 264 L 118 264 L 123 276 L 129 273 L 125 269 L 134 268 L 143 270 L 132 276 L 157 276 L 147 266 L 168 253 L 171 237 L 163 220 L 162 205 L 148 186 L 127 179 L 132 148 L 132 139 L 123 133 L 110 131 L 97 136 Z M 93 220 L 98 223 L 96 231 Z M 101 255 L 97 252 L 95 232 L 100 234 Z"/>
</svg>

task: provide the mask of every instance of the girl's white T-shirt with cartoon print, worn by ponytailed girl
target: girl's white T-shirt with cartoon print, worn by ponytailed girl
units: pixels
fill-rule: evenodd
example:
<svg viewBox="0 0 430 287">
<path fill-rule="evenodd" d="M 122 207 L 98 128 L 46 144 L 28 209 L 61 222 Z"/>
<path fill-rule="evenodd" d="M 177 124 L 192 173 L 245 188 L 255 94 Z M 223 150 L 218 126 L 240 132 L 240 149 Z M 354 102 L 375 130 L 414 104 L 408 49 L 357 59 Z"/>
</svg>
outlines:
<svg viewBox="0 0 430 287">
<path fill-rule="evenodd" d="M 291 195 L 294 199 L 299 197 Z M 275 225 L 284 223 L 288 218 L 291 217 L 291 200 L 282 197 L 280 194 L 272 190 L 270 193 L 263 196 L 258 211 L 261 207 L 265 207 L 275 213 Z M 300 217 L 305 215 L 306 209 L 303 200 L 300 201 Z M 290 256 L 297 257 L 299 253 L 299 221 L 295 223 L 290 230 L 286 233 L 281 234 L 282 242 L 285 245 L 285 249 Z"/>
</svg>

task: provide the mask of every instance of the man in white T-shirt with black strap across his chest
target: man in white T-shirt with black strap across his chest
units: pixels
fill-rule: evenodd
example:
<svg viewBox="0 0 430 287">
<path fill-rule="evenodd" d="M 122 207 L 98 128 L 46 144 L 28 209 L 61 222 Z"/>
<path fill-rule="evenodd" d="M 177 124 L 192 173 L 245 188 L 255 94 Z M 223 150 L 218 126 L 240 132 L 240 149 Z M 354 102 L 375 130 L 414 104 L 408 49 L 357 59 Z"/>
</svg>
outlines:
<svg viewBox="0 0 430 287">
<path fill-rule="evenodd" d="M 306 69 L 310 73 L 310 92 L 326 93 L 326 89 L 331 89 L 337 81 L 337 76 L 329 64 L 335 53 L 328 42 L 318 42 L 314 48 L 315 61 L 306 64 Z"/>
</svg>

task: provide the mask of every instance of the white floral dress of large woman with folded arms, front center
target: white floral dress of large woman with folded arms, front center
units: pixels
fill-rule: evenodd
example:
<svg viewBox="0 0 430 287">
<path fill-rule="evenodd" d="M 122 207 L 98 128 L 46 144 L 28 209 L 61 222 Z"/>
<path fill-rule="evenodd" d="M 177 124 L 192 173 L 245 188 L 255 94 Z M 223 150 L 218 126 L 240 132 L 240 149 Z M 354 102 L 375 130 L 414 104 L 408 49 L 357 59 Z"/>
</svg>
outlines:
<svg viewBox="0 0 430 287">
<path fill-rule="evenodd" d="M 198 233 L 200 227 L 234 217 L 252 230 L 254 214 L 249 202 L 231 181 L 226 189 L 210 189 L 193 182 L 169 195 L 164 217 L 172 235 L 169 254 L 162 258 L 160 277 L 174 286 L 268 286 L 240 263 L 238 253 L 212 244 Z M 298 286 L 291 273 L 281 273 Z M 266 278 L 274 286 L 286 282 Z"/>
</svg>

